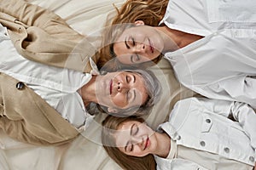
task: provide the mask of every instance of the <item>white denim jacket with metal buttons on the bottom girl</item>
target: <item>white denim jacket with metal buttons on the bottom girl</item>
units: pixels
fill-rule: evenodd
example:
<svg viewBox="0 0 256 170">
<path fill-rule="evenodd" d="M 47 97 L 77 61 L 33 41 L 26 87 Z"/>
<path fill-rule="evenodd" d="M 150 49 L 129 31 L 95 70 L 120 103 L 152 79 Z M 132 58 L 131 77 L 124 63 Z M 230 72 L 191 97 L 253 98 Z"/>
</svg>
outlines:
<svg viewBox="0 0 256 170">
<path fill-rule="evenodd" d="M 237 122 L 227 118 L 229 115 L 234 116 Z M 176 141 L 177 147 L 183 145 L 218 154 L 244 163 L 243 169 L 253 169 L 256 156 L 255 122 L 256 114 L 246 104 L 190 98 L 177 102 L 169 121 L 161 124 L 160 129 Z M 198 165 L 192 157 L 191 160 L 184 160 L 155 156 L 155 160 L 161 170 L 215 169 Z M 221 161 L 219 160 L 219 163 L 222 163 Z M 211 162 L 211 167 L 214 167 L 215 162 Z"/>
</svg>

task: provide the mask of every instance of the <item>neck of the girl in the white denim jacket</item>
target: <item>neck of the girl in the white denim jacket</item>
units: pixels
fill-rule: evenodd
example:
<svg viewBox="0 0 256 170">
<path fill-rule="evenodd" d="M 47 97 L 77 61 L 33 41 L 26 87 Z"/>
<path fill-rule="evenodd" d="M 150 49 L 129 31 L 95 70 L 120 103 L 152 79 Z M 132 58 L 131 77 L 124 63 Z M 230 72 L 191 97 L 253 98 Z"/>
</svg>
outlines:
<svg viewBox="0 0 256 170">
<path fill-rule="evenodd" d="M 157 148 L 154 155 L 166 158 L 171 150 L 171 138 L 166 133 L 156 133 Z"/>
</svg>

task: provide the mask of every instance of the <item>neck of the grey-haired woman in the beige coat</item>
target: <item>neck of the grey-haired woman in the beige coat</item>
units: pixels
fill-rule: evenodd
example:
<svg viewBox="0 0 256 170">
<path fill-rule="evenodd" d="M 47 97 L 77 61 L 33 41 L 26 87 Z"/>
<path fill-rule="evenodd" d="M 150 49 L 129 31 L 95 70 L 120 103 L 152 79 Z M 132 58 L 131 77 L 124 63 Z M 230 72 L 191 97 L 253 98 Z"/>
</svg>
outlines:
<svg viewBox="0 0 256 170">
<path fill-rule="evenodd" d="M 90 81 L 84 84 L 82 88 L 79 90 L 79 94 L 81 95 L 84 105 L 89 105 L 90 102 L 97 102 L 96 99 L 96 76 L 92 76 Z"/>
</svg>

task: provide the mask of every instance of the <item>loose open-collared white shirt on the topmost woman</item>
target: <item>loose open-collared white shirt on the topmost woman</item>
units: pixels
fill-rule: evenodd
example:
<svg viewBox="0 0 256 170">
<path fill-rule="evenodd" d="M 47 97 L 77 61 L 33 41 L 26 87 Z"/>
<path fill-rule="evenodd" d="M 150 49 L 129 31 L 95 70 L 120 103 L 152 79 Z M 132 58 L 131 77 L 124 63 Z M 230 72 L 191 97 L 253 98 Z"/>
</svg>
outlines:
<svg viewBox="0 0 256 170">
<path fill-rule="evenodd" d="M 161 23 L 203 36 L 165 54 L 179 82 L 208 98 L 256 108 L 255 1 L 172 0 Z"/>
</svg>

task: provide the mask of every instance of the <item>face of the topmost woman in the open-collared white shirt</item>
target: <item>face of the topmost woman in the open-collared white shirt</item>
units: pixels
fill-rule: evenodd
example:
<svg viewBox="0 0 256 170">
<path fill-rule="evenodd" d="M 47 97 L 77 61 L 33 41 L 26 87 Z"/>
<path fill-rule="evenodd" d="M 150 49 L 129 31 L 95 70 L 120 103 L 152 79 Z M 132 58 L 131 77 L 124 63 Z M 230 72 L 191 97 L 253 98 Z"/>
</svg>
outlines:
<svg viewBox="0 0 256 170">
<path fill-rule="evenodd" d="M 164 48 L 164 40 L 152 26 L 143 21 L 127 28 L 113 44 L 113 52 L 125 65 L 139 64 L 157 58 Z"/>
</svg>

